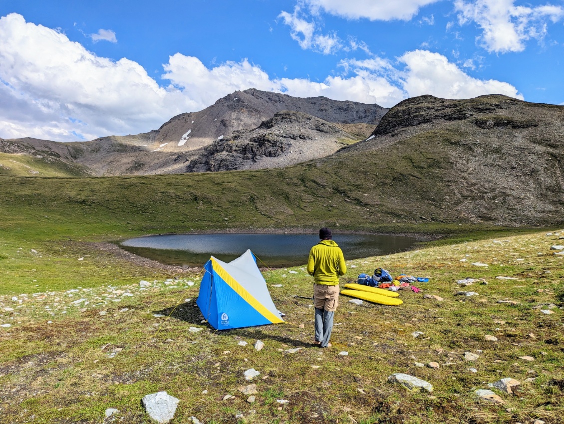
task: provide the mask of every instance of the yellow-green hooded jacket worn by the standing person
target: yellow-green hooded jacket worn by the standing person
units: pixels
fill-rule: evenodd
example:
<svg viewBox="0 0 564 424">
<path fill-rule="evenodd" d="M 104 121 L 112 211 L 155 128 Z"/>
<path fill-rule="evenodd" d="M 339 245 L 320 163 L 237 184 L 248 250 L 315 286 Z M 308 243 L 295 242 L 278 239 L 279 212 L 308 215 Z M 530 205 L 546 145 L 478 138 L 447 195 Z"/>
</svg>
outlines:
<svg viewBox="0 0 564 424">
<path fill-rule="evenodd" d="M 307 272 L 314 276 L 316 284 L 336 286 L 339 276 L 345 275 L 347 266 L 343 251 L 333 240 L 321 240 L 310 250 Z"/>
</svg>

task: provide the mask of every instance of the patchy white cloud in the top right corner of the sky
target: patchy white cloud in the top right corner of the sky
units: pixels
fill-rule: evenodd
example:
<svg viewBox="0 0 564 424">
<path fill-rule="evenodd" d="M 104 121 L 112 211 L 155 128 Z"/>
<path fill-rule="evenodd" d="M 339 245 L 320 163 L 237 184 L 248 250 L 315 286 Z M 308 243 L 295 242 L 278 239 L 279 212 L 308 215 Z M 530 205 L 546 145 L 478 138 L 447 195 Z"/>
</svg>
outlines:
<svg viewBox="0 0 564 424">
<path fill-rule="evenodd" d="M 456 0 L 460 24 L 476 23 L 482 29 L 479 44 L 489 52 L 525 50 L 531 38 L 541 41 L 547 34 L 547 21 L 564 17 L 561 6 L 515 6 L 514 0 Z"/>
</svg>

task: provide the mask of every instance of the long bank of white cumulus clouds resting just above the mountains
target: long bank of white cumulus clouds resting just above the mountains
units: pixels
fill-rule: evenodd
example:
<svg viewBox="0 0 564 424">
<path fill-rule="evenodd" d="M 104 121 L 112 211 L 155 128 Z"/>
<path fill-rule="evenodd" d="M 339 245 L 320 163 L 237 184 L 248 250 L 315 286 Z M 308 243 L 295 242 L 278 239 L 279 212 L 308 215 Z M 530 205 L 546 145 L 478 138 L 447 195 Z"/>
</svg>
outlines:
<svg viewBox="0 0 564 424">
<path fill-rule="evenodd" d="M 394 61 L 342 60 L 343 73 L 323 82 L 271 78 L 246 59 L 208 68 L 198 58 L 177 53 L 163 65 L 160 84 L 132 60 L 99 57 L 65 34 L 27 23 L 21 15 L 0 18 L 0 39 L 2 138 L 70 141 L 137 134 L 252 87 L 384 107 L 420 94 L 470 98 L 501 93 L 522 98 L 508 83 L 470 77 L 444 56 L 425 50 L 407 52 Z"/>
</svg>

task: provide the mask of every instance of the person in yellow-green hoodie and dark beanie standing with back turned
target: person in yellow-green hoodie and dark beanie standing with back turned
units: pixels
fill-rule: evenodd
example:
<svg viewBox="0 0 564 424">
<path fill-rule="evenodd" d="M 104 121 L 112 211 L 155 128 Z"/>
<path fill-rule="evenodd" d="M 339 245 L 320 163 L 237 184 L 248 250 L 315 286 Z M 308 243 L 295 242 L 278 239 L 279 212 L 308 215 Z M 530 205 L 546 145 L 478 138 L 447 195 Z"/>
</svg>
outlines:
<svg viewBox="0 0 564 424">
<path fill-rule="evenodd" d="M 319 238 L 321 241 L 310 250 L 307 272 L 314 276 L 315 344 L 331 347 L 333 315 L 339 306 L 339 276 L 345 275 L 347 266 L 343 251 L 332 240 L 331 229 L 321 228 Z"/>
</svg>

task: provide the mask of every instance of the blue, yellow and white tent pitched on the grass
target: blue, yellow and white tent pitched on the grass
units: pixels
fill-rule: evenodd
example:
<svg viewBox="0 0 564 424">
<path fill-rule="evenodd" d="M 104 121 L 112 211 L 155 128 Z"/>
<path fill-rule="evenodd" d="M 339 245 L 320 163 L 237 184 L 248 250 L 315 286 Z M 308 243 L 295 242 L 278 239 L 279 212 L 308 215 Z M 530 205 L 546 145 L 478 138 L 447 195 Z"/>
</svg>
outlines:
<svg viewBox="0 0 564 424">
<path fill-rule="evenodd" d="M 283 323 L 250 250 L 229 263 L 213 256 L 196 304 L 216 330 Z"/>
</svg>

